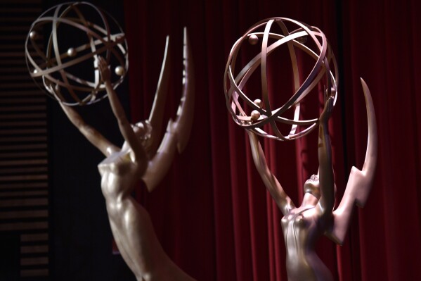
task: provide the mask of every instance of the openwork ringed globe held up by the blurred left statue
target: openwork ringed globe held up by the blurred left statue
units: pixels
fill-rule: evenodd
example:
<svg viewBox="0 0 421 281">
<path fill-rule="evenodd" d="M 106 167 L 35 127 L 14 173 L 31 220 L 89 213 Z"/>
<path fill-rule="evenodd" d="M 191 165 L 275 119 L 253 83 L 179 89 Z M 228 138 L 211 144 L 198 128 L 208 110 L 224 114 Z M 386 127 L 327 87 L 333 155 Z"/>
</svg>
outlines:
<svg viewBox="0 0 421 281">
<path fill-rule="evenodd" d="M 48 38 L 46 49 L 40 34 Z M 110 78 L 117 88 L 129 65 L 124 32 L 108 13 L 87 2 L 48 9 L 32 23 L 25 42 L 27 68 L 34 82 L 54 98 L 49 89 L 57 85 L 60 101 L 70 106 L 92 104 L 107 95 L 98 72 L 98 55 L 124 68 L 122 75 Z"/>
</svg>

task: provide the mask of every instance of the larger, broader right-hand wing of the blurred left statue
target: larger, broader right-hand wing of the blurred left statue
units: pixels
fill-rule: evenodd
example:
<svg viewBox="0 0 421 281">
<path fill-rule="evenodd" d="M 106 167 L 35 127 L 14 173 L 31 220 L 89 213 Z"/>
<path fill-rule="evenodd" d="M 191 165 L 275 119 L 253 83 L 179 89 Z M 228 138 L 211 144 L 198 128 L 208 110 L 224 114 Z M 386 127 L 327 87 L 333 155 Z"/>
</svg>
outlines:
<svg viewBox="0 0 421 281">
<path fill-rule="evenodd" d="M 169 120 L 167 132 L 165 132 L 160 147 L 155 156 L 149 161 L 148 168 L 142 176 L 142 180 L 145 182 L 146 187 L 148 187 L 149 192 L 152 191 L 162 180 L 164 175 L 167 174 L 176 149 L 181 153 L 186 147 L 193 124 L 195 102 L 193 62 L 186 27 L 184 28 L 183 63 L 183 92 L 177 110 L 176 120 Z"/>
</svg>

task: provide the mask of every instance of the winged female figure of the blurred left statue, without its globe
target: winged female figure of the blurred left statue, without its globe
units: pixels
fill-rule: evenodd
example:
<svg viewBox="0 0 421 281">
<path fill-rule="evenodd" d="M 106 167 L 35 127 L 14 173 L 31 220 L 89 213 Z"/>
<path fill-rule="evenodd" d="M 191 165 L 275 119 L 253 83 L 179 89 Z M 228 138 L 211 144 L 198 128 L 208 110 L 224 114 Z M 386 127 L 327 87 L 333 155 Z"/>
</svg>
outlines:
<svg viewBox="0 0 421 281">
<path fill-rule="evenodd" d="M 149 120 L 131 125 L 119 103 L 110 82 L 111 70 L 107 61 L 98 57 L 101 73 L 112 111 L 125 142 L 121 148 L 110 143 L 95 128 L 90 127 L 71 106 L 60 103 L 63 111 L 79 131 L 98 148 L 106 158 L 99 163 L 101 189 L 110 220 L 112 234 L 124 261 L 144 280 L 193 280 L 171 261 L 158 241 L 148 212 L 138 204 L 131 193 L 141 180 L 152 191 L 171 166 L 174 154 L 183 151 L 193 121 L 193 63 L 186 29 L 184 30 L 183 94 L 175 120 L 169 120 L 163 139 L 156 131 L 162 126 L 164 103 L 169 82 L 169 40 L 153 109 Z M 50 91 L 53 87 L 50 86 Z M 55 92 L 60 98 L 60 92 Z M 158 147 L 159 146 L 159 147 Z"/>
</svg>

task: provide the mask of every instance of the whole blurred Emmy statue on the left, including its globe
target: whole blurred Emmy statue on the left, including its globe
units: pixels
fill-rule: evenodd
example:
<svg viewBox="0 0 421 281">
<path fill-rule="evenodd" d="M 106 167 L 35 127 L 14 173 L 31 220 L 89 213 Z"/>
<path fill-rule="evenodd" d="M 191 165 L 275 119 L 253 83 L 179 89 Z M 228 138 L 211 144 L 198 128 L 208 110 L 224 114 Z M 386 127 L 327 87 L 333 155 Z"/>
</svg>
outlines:
<svg viewBox="0 0 421 281">
<path fill-rule="evenodd" d="M 43 33 L 47 24 L 51 24 L 51 33 Z M 113 25 L 116 30 L 112 30 Z M 112 235 L 139 281 L 193 280 L 164 252 L 148 212 L 131 196 L 141 180 L 149 192 L 155 189 L 171 167 L 176 151 L 181 153 L 190 137 L 195 99 L 193 61 L 186 28 L 183 34 L 182 96 L 176 118 L 166 127 L 162 123 L 171 75 L 169 37 L 150 117 L 131 124 L 115 92 L 127 74 L 127 44 L 124 32 L 110 15 L 85 2 L 60 4 L 35 20 L 27 35 L 31 76 L 58 100 L 70 122 L 105 156 L 98 170 Z M 48 38 L 45 53 L 39 47 L 41 37 Z M 66 45 L 63 37 L 75 41 Z M 37 56 L 32 56 L 29 48 Z M 89 105 L 106 97 L 124 137 L 121 147 L 85 123 L 72 106 Z M 166 131 L 161 138 L 162 128 Z"/>
</svg>

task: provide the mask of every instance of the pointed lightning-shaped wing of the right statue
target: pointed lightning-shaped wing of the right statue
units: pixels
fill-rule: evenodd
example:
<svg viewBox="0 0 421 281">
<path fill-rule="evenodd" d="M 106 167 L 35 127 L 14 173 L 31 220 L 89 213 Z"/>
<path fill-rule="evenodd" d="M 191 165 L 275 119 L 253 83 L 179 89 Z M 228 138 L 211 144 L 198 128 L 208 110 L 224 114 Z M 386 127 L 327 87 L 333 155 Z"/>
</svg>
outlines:
<svg viewBox="0 0 421 281">
<path fill-rule="evenodd" d="M 333 212 L 332 228 L 325 232 L 326 236 L 340 245 L 344 242 L 354 204 L 362 208 L 367 201 L 368 194 L 370 194 L 373 185 L 377 163 L 377 124 L 373 99 L 371 98 L 370 90 L 362 78 L 361 85 L 363 86 L 365 96 L 368 122 L 368 141 L 364 166 L 362 170 L 358 170 L 355 166 L 352 167 L 342 201 Z"/>
</svg>

